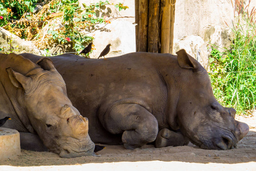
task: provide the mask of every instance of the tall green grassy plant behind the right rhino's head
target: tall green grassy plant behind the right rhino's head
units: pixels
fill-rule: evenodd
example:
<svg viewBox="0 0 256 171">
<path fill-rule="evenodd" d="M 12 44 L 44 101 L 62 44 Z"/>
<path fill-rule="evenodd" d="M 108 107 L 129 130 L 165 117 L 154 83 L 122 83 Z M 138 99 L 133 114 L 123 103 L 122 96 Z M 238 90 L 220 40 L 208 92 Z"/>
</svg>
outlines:
<svg viewBox="0 0 256 171">
<path fill-rule="evenodd" d="M 246 113 L 256 105 L 256 26 L 255 10 L 250 13 L 235 1 L 238 23 L 232 30 L 234 39 L 221 53 L 212 47 L 209 59 L 214 95 L 222 104 Z"/>
</svg>

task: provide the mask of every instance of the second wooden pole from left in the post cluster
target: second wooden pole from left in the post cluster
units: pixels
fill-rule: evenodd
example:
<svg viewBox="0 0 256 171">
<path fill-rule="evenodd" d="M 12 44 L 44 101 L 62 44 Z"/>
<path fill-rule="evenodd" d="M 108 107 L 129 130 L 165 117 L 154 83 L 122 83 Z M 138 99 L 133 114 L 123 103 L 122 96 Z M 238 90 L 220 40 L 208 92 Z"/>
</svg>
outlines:
<svg viewBox="0 0 256 171">
<path fill-rule="evenodd" d="M 159 15 L 160 0 L 149 1 L 148 12 L 148 52 L 159 52 L 160 35 L 159 35 Z"/>
</svg>

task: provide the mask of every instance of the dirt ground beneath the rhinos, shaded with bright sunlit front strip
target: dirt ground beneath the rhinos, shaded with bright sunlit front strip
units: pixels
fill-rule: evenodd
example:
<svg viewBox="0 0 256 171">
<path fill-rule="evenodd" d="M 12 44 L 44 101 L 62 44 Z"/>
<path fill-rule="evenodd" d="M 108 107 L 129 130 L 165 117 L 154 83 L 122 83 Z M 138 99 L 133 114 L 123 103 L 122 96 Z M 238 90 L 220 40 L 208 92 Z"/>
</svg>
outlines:
<svg viewBox="0 0 256 171">
<path fill-rule="evenodd" d="M 105 145 L 100 157 L 60 158 L 50 152 L 22 150 L 16 158 L 0 161 L 0 170 L 256 170 L 256 116 L 237 120 L 249 124 L 250 132 L 231 150 L 205 150 L 188 146 L 127 150 Z"/>
</svg>

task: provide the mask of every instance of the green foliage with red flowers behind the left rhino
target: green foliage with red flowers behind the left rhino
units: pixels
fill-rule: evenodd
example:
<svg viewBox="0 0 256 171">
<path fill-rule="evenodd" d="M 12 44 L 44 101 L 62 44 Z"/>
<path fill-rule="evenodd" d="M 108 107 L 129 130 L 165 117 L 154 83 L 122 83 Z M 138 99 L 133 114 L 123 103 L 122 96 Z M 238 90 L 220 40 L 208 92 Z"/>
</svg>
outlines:
<svg viewBox="0 0 256 171">
<path fill-rule="evenodd" d="M 74 50 L 79 52 L 84 48 L 84 44 L 87 45 L 94 40 L 94 37 L 82 34 L 82 30 L 91 31 L 98 23 L 111 23 L 106 15 L 97 17 L 95 12 L 96 9 L 104 9 L 105 5 L 110 5 L 108 1 L 99 1 L 99 3 L 88 6 L 83 4 L 85 10 L 81 10 L 78 0 L 55 0 L 44 5 L 37 14 L 33 14 L 34 3 L 38 1 L 0 2 L 0 14 L 2 15 L 0 26 L 21 38 L 31 40 L 37 47 L 47 52 L 52 44 L 59 44 L 58 46 L 72 44 Z M 123 7 L 123 9 L 126 8 L 126 6 Z M 10 19 L 21 19 L 21 21 L 12 23 Z M 56 21 L 62 23 L 57 25 Z M 45 26 L 46 29 L 44 29 Z M 46 30 L 47 34 L 44 34 L 42 30 Z"/>
</svg>

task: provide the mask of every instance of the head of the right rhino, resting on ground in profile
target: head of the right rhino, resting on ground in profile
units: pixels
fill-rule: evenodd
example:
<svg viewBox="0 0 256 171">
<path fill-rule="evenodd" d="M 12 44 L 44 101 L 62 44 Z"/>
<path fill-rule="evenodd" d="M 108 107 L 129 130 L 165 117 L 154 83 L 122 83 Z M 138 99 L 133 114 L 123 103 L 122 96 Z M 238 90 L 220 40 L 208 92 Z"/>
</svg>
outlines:
<svg viewBox="0 0 256 171">
<path fill-rule="evenodd" d="M 213 95 L 208 72 L 185 50 L 177 52 L 180 71 L 177 115 L 172 127 L 204 149 L 233 149 L 249 132 L 249 127 L 234 119 L 235 109 L 223 107 Z M 182 73 L 182 75 L 181 75 Z M 173 124 L 177 120 L 177 125 Z"/>
</svg>

